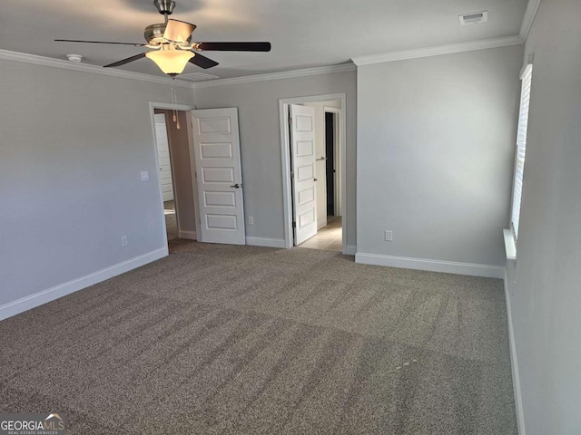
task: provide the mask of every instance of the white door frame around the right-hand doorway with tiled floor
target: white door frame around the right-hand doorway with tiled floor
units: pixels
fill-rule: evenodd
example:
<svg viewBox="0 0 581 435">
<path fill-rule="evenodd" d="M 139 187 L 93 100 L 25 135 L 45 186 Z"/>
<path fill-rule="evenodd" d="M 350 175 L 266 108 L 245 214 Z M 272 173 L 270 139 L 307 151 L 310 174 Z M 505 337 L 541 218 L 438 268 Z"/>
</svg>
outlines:
<svg viewBox="0 0 581 435">
<path fill-rule="evenodd" d="M 340 185 L 341 185 L 341 216 L 342 216 L 342 252 L 347 252 L 347 192 L 346 181 L 346 145 L 345 145 L 345 115 L 347 113 L 345 102 L 346 93 L 332 93 L 327 95 L 310 95 L 304 97 L 281 98 L 279 100 L 279 114 L 281 121 L 281 163 L 282 163 L 282 208 L 284 218 L 284 246 L 292 247 L 292 194 L 291 194 L 291 142 L 289 138 L 289 105 L 305 102 L 329 102 L 340 100 Z"/>
</svg>

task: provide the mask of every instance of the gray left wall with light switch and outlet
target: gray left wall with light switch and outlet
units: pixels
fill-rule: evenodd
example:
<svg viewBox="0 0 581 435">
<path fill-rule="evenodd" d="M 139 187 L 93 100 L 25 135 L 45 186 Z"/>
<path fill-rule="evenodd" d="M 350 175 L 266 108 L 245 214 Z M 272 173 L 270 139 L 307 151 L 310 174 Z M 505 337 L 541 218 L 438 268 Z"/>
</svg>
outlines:
<svg viewBox="0 0 581 435">
<path fill-rule="evenodd" d="M 0 77 L 0 305 L 162 248 L 149 102 L 169 86 L 3 60 Z"/>
</svg>

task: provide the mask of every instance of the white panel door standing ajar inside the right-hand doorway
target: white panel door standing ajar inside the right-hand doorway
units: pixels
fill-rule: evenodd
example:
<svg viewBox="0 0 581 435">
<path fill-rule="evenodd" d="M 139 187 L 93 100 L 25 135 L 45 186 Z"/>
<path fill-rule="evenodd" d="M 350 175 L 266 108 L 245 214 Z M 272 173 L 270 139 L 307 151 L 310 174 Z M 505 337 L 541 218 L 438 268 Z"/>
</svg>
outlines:
<svg viewBox="0 0 581 435">
<path fill-rule="evenodd" d="M 317 234 L 315 108 L 291 104 L 291 178 L 294 244 Z"/>
</svg>

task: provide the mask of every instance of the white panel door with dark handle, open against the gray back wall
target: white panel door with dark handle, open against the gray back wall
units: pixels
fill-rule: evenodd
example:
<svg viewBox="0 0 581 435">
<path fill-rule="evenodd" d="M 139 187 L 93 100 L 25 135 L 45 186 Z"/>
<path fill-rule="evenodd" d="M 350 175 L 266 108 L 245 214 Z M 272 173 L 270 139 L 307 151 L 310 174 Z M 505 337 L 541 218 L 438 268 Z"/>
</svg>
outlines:
<svg viewBox="0 0 581 435">
<path fill-rule="evenodd" d="M 238 109 L 192 111 L 192 137 L 201 220 L 198 240 L 245 245 Z"/>
</svg>

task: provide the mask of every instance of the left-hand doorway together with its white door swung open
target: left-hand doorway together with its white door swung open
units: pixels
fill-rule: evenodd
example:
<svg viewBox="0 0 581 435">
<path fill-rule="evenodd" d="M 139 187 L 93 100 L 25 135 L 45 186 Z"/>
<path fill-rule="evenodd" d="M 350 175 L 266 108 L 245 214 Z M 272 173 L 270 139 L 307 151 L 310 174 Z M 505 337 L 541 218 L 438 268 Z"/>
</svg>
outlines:
<svg viewBox="0 0 581 435">
<path fill-rule="evenodd" d="M 245 245 L 238 110 L 150 102 L 150 112 L 168 251 Z"/>
</svg>

